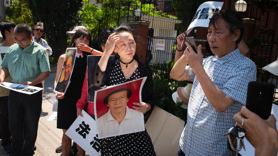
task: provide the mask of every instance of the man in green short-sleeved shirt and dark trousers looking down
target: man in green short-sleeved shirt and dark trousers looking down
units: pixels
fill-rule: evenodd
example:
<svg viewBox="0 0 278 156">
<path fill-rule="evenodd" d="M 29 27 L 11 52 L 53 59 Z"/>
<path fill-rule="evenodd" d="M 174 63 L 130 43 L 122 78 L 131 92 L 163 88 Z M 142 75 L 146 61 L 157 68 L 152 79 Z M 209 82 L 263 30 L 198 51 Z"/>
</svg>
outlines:
<svg viewBox="0 0 278 156">
<path fill-rule="evenodd" d="M 0 82 L 7 76 L 16 84 L 42 88 L 41 81 L 49 76 L 47 51 L 32 40 L 32 29 L 27 24 L 15 27 L 14 42 L 3 61 Z M 9 129 L 12 135 L 11 156 L 33 155 L 40 119 L 42 91 L 28 95 L 11 90 L 8 100 Z M 26 124 L 23 140 L 23 124 Z"/>
</svg>

